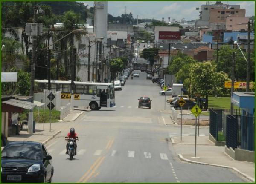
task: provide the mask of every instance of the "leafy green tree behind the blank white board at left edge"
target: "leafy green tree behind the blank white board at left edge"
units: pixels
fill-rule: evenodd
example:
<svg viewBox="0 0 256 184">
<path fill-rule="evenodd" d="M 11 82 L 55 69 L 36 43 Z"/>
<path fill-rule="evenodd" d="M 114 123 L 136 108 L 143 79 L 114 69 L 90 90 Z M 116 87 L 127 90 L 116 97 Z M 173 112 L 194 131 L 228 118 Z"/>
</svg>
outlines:
<svg viewBox="0 0 256 184">
<path fill-rule="evenodd" d="M 30 90 L 30 74 L 21 69 L 12 67 L 7 72 L 18 72 L 17 82 L 3 82 L 2 94 L 3 95 L 29 95 Z"/>
</svg>

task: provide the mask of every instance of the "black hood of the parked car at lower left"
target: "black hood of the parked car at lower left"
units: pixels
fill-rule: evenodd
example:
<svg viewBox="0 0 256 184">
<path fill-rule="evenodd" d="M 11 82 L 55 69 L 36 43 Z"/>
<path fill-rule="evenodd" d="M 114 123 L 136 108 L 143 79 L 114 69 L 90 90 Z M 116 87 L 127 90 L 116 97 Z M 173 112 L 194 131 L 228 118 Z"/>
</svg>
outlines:
<svg viewBox="0 0 256 184">
<path fill-rule="evenodd" d="M 3 159 L 1 160 L 2 167 L 30 167 L 33 164 L 41 164 L 40 160 L 30 159 Z"/>
</svg>

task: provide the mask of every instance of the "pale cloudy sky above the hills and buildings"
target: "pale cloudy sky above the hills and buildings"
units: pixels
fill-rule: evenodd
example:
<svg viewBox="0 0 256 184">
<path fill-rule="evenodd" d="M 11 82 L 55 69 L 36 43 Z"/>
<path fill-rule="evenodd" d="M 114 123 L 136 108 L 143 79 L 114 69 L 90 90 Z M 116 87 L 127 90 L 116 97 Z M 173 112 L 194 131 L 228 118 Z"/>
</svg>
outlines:
<svg viewBox="0 0 256 184">
<path fill-rule="evenodd" d="M 215 1 L 209 1 L 215 4 Z M 93 6 L 93 1 L 83 1 L 85 5 Z M 222 1 L 224 4 L 239 4 L 240 8 L 246 9 L 246 16 L 255 15 L 254 1 Z M 196 7 L 206 4 L 206 1 L 108 1 L 108 13 L 117 17 L 126 12 L 132 13 L 134 18 L 154 18 L 157 20 L 195 20 L 199 12 Z"/>
</svg>

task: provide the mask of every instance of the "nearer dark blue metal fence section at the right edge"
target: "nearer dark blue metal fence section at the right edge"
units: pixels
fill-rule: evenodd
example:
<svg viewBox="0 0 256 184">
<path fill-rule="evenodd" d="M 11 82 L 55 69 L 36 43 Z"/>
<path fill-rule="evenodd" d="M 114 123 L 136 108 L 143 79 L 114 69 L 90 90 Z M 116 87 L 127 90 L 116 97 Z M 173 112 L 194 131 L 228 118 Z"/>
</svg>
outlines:
<svg viewBox="0 0 256 184">
<path fill-rule="evenodd" d="M 226 145 L 254 151 L 254 117 L 227 115 Z"/>
</svg>

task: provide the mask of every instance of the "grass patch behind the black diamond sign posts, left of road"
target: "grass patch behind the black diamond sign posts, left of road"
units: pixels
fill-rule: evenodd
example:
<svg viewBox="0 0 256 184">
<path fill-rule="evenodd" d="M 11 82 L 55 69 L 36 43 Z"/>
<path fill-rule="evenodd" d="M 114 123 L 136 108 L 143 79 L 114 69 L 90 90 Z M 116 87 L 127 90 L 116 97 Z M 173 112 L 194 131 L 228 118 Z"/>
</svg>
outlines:
<svg viewBox="0 0 256 184">
<path fill-rule="evenodd" d="M 21 121 L 23 121 L 24 119 L 26 119 L 26 113 L 29 113 L 28 110 L 24 110 L 24 112 L 22 114 L 20 114 L 20 119 Z M 52 115 L 51 115 L 51 122 L 58 122 L 58 120 L 60 119 L 61 116 L 61 112 L 60 111 L 56 111 L 56 110 L 52 110 Z M 44 120 L 45 118 L 45 120 Z M 35 108 L 34 109 L 34 120 L 35 122 L 38 123 L 38 109 Z M 50 110 L 47 108 L 45 109 L 39 109 L 39 123 L 49 123 L 50 122 Z"/>
</svg>

